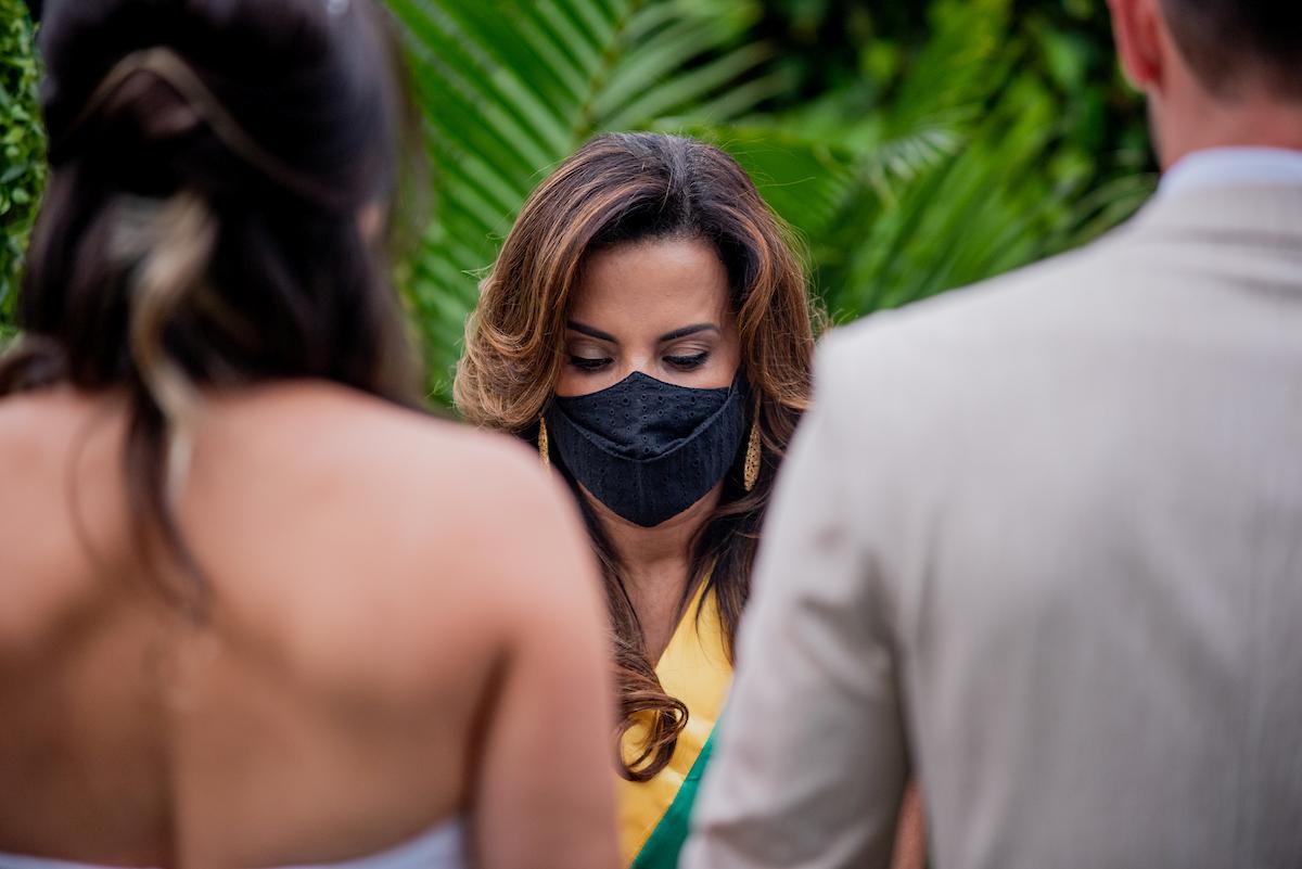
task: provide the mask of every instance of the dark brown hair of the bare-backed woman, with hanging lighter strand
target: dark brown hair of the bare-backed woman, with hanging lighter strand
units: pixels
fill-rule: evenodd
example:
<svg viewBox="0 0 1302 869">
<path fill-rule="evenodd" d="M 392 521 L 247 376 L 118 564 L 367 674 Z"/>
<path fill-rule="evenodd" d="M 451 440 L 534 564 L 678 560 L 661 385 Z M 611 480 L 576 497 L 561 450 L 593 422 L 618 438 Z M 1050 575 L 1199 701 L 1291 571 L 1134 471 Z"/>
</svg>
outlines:
<svg viewBox="0 0 1302 869">
<path fill-rule="evenodd" d="M 0 395 L 125 397 L 142 545 L 202 600 L 173 515 L 208 386 L 324 379 L 404 405 L 401 308 L 359 228 L 401 91 L 371 0 L 47 0 L 51 180 Z M 152 550 L 151 550 L 152 552 Z"/>
</svg>

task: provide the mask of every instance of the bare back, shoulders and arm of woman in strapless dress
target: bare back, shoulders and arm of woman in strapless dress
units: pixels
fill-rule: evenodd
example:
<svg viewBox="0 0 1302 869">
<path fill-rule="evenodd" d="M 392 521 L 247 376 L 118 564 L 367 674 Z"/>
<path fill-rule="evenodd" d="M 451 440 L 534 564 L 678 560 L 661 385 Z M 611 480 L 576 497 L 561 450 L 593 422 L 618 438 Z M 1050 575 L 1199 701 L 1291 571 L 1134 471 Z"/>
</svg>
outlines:
<svg viewBox="0 0 1302 869">
<path fill-rule="evenodd" d="M 212 397 L 194 623 L 134 544 L 122 431 L 0 402 L 0 851 L 302 864 L 467 814 L 484 865 L 605 865 L 598 585 L 523 450 L 326 385 Z"/>
</svg>

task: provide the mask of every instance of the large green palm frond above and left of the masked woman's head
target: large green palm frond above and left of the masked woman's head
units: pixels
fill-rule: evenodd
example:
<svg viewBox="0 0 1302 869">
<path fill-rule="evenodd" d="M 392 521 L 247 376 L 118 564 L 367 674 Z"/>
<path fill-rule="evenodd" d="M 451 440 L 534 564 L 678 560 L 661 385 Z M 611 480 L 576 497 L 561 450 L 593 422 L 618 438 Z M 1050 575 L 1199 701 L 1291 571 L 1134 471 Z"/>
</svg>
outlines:
<svg viewBox="0 0 1302 869">
<path fill-rule="evenodd" d="M 745 4 L 389 0 L 431 142 L 435 220 L 409 303 L 445 398 L 462 324 L 530 190 L 603 130 L 721 124 L 781 87 Z M 673 121 L 668 121 L 673 118 Z"/>
</svg>

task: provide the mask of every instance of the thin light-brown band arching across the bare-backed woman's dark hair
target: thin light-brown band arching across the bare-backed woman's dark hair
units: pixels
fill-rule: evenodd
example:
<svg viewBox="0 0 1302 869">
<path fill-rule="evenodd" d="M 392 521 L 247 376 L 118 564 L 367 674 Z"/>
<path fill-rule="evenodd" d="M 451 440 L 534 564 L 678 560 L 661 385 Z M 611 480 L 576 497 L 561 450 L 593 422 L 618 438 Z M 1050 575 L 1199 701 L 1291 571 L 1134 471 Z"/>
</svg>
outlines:
<svg viewBox="0 0 1302 869">
<path fill-rule="evenodd" d="M 203 118 L 219 139 L 242 160 L 262 172 L 270 180 L 299 196 L 323 204 L 332 211 L 346 211 L 348 203 L 331 187 L 316 180 L 299 174 L 276 155 L 268 152 L 245 131 L 234 117 L 221 105 L 221 100 L 208 88 L 194 68 L 171 48 L 147 48 L 128 55 L 109 70 L 104 81 L 86 101 L 77 120 L 69 127 L 74 135 L 103 107 L 104 103 L 135 73 L 151 73 L 167 82 Z"/>
</svg>

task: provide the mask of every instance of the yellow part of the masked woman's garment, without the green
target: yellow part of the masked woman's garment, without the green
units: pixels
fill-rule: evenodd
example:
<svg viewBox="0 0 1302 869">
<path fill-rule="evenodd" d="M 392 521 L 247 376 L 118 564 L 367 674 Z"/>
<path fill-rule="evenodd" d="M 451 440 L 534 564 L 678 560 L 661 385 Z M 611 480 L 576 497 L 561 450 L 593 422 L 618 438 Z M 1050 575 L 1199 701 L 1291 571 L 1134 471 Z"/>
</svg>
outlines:
<svg viewBox="0 0 1302 869">
<path fill-rule="evenodd" d="M 700 584 L 655 669 L 665 692 L 687 705 L 687 726 L 678 735 L 673 758 L 650 782 L 622 778 L 618 782 L 620 847 L 626 866 L 633 865 L 678 795 L 719 721 L 732 684 L 719 601 L 713 593 L 706 596 L 706 585 Z M 641 723 L 629 729 L 624 740 L 625 757 L 637 757 L 635 748 L 642 744 L 646 732 L 646 726 Z"/>
</svg>

